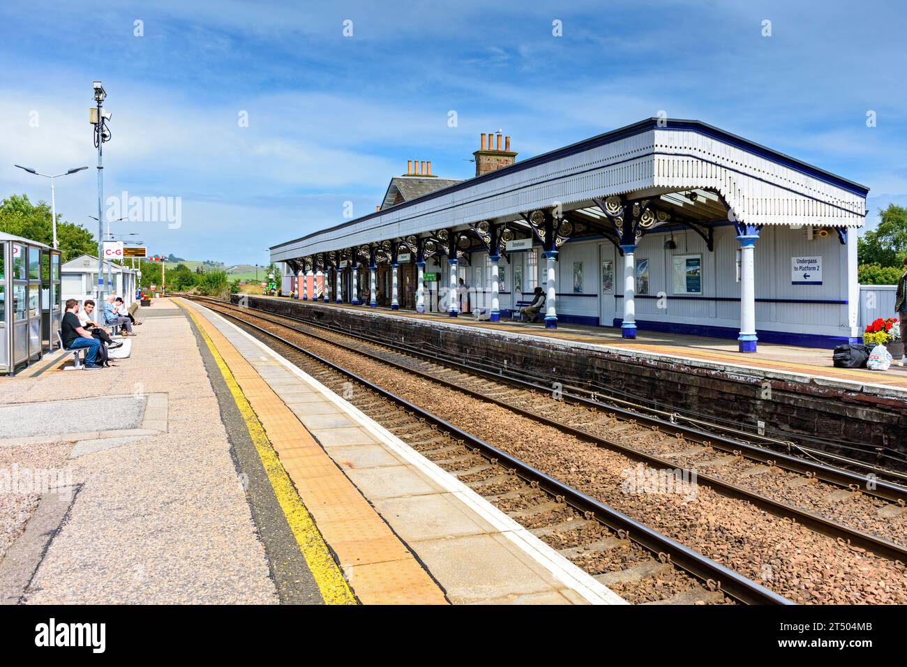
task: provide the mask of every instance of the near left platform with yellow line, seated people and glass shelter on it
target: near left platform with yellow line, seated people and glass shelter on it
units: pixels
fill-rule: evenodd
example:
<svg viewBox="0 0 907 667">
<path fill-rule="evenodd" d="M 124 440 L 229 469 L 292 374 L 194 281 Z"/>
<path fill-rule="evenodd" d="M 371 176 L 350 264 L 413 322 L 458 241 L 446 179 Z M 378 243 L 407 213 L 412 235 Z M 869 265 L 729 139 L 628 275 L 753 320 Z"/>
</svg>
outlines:
<svg viewBox="0 0 907 667">
<path fill-rule="evenodd" d="M 624 603 L 226 319 L 141 315 L 0 383 L 3 603 Z"/>
</svg>

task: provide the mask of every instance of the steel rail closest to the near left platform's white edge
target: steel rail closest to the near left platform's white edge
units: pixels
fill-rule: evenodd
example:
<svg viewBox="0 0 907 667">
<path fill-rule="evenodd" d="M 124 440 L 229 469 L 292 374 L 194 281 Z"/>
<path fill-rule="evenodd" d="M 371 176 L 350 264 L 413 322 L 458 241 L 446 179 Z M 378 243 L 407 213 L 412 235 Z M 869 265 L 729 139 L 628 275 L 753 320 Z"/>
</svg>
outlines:
<svg viewBox="0 0 907 667">
<path fill-rule="evenodd" d="M 217 309 L 212 310 L 218 312 Z M 367 387 L 369 390 L 374 391 L 396 405 L 403 407 L 415 416 L 434 424 L 434 426 L 443 430 L 445 433 L 448 433 L 454 439 L 468 443 L 468 445 L 473 446 L 474 449 L 478 449 L 486 458 L 501 463 L 502 466 L 512 468 L 517 475 L 522 476 L 523 479 L 530 483 L 537 484 L 549 494 L 563 497 L 564 502 L 572 505 L 580 512 L 584 514 L 591 513 L 591 515 L 597 518 L 602 524 L 608 526 L 610 530 L 615 533 L 620 532 L 621 535 L 625 535 L 627 539 L 644 547 L 649 553 L 655 554 L 656 556 L 664 554 L 671 564 L 685 570 L 701 582 L 714 584 L 717 587 L 717 590 L 730 595 L 738 602 L 746 604 L 794 604 L 783 595 L 768 590 L 765 586 L 747 579 L 742 574 L 739 574 L 722 564 L 716 563 L 703 554 L 699 554 L 697 551 L 678 543 L 667 535 L 661 535 L 658 531 L 620 513 L 613 507 L 605 505 L 589 495 L 585 495 L 581 491 L 563 484 L 559 480 L 542 473 L 541 470 L 529 466 L 497 447 L 486 443 L 482 439 L 472 436 L 460 428 L 453 426 L 453 424 L 448 423 L 443 418 L 410 403 L 403 397 L 396 396 L 394 393 L 375 385 L 366 378 L 358 376 L 353 371 L 343 368 L 325 358 L 319 357 L 314 352 L 302 348 L 286 338 L 278 336 L 276 333 L 258 327 L 258 325 L 249 322 L 247 319 L 239 318 L 228 312 L 219 312 L 219 315 L 234 319 L 242 325 L 268 336 L 268 338 L 278 340 L 288 348 L 294 349 L 308 358 L 312 358 L 327 366 L 327 368 L 332 368 L 346 377 L 353 379 L 357 383 Z"/>
</svg>

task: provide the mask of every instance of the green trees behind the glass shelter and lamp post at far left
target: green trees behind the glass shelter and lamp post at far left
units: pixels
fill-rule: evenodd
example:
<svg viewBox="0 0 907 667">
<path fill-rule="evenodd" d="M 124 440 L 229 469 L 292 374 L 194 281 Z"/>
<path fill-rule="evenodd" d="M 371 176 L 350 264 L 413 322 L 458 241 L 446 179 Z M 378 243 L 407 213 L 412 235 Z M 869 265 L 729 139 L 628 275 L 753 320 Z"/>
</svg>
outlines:
<svg viewBox="0 0 907 667">
<path fill-rule="evenodd" d="M 33 204 L 25 194 L 10 195 L 0 202 L 0 231 L 52 246 L 54 230 L 51 207 L 44 201 Z M 57 242 L 60 244 L 63 261 L 84 254 L 98 254 L 98 242 L 94 240 L 92 232 L 81 224 L 63 221 L 60 213 L 57 213 Z"/>
</svg>

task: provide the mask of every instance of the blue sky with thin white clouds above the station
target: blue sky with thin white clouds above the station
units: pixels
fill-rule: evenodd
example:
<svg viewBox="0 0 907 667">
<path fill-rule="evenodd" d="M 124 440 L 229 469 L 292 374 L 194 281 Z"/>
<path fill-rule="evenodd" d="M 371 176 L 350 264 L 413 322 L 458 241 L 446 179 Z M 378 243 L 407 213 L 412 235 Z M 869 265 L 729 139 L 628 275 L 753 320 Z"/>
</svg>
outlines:
<svg viewBox="0 0 907 667">
<path fill-rule="evenodd" d="M 182 203 L 179 229 L 114 231 L 190 259 L 264 262 L 268 246 L 343 221 L 346 201 L 374 211 L 407 159 L 468 178 L 481 132 L 510 134 L 519 160 L 659 111 L 870 186 L 870 225 L 889 201 L 907 205 L 897 2 L 148 5 L 0 5 L 0 196 L 49 200 L 14 162 L 93 167 L 100 79 L 105 197 Z M 57 211 L 94 224 L 94 169 L 57 183 Z"/>
</svg>

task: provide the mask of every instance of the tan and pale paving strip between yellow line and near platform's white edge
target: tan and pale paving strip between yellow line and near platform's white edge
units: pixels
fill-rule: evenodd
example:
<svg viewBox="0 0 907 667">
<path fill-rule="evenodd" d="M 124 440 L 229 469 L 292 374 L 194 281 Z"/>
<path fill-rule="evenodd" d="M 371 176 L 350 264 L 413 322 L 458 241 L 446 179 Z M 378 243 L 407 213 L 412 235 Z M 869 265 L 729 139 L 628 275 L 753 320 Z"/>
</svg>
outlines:
<svg viewBox="0 0 907 667">
<path fill-rule="evenodd" d="M 415 564 L 411 553 L 452 603 L 622 602 L 327 387 L 184 303 L 237 374 L 357 596 L 382 569 L 375 560 L 394 561 L 403 578 L 410 574 L 398 564 Z M 269 405 L 256 407 L 257 397 Z"/>
</svg>

